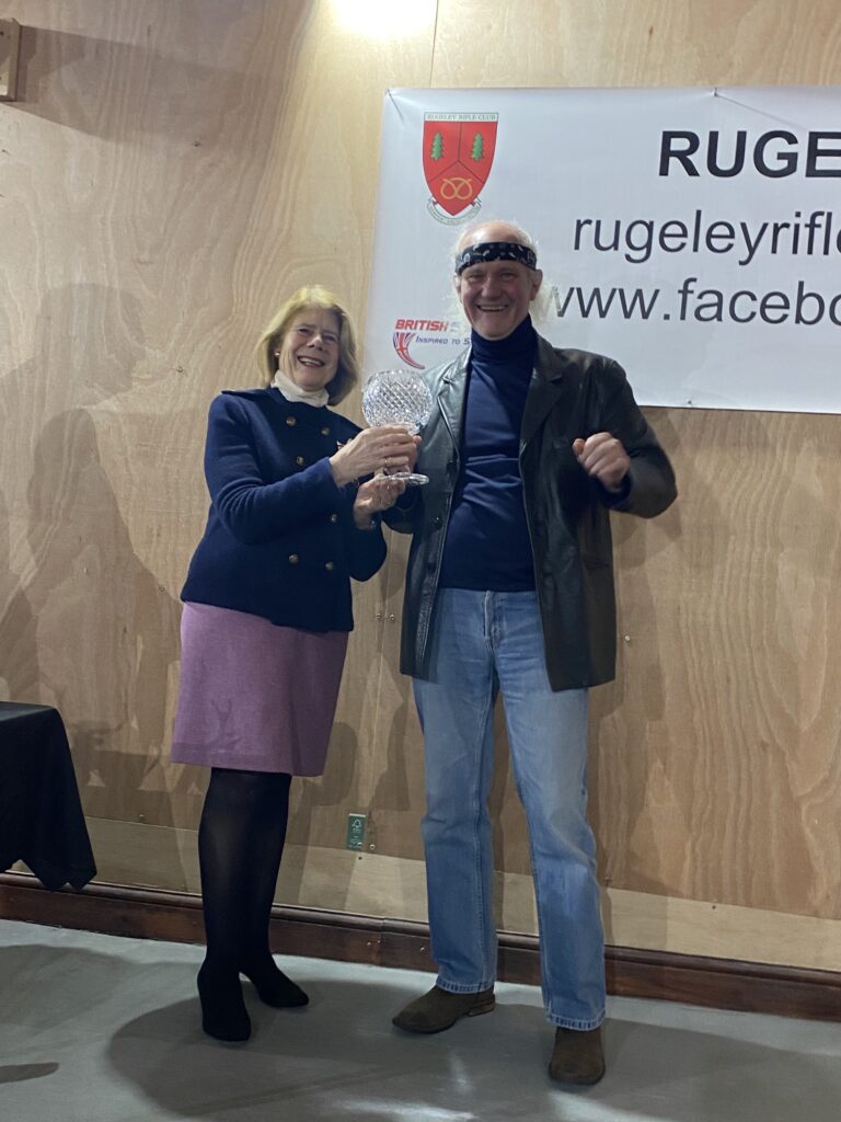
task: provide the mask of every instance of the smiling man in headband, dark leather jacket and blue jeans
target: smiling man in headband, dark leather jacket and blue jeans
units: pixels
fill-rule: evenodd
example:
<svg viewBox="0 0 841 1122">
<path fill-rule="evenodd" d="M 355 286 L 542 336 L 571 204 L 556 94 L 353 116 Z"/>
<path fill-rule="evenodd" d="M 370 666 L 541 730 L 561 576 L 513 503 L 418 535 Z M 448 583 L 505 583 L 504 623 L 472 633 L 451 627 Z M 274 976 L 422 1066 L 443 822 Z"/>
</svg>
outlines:
<svg viewBox="0 0 841 1122">
<path fill-rule="evenodd" d="M 616 604 L 608 512 L 653 517 L 672 467 L 625 373 L 537 334 L 530 238 L 488 221 L 459 242 L 454 284 L 471 347 L 428 374 L 435 410 L 390 512 L 414 534 L 400 669 L 424 732 L 423 836 L 435 986 L 394 1019 L 438 1032 L 493 1009 L 493 702 L 505 700 L 529 829 L 549 1075 L 604 1072 L 604 939 L 586 821 L 588 689 L 610 681 Z"/>
</svg>

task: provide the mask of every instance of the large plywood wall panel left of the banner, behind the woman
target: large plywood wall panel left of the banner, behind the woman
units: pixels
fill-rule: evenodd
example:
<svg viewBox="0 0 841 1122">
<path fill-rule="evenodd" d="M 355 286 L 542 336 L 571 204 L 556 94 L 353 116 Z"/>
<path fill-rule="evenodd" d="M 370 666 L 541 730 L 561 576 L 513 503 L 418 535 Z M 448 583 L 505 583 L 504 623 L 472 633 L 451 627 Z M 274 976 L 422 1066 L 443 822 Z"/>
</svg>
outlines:
<svg viewBox="0 0 841 1122">
<path fill-rule="evenodd" d="M 255 383 L 298 284 L 363 312 L 382 92 L 428 75 L 424 7 L 427 27 L 371 46 L 304 0 L 16 6 L 0 688 L 61 708 L 91 813 L 195 825 L 204 776 L 166 757 L 206 408 Z M 369 718 L 345 697 L 355 743 Z"/>
</svg>

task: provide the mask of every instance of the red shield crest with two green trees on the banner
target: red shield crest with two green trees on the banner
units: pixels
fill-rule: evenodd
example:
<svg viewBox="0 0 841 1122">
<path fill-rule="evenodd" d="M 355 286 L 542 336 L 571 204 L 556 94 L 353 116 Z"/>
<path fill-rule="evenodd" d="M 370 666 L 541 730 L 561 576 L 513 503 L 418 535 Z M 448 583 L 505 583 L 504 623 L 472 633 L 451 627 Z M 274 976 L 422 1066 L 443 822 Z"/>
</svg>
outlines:
<svg viewBox="0 0 841 1122">
<path fill-rule="evenodd" d="M 432 192 L 427 208 L 447 226 L 479 213 L 497 147 L 499 113 L 425 113 L 424 175 Z"/>
</svg>

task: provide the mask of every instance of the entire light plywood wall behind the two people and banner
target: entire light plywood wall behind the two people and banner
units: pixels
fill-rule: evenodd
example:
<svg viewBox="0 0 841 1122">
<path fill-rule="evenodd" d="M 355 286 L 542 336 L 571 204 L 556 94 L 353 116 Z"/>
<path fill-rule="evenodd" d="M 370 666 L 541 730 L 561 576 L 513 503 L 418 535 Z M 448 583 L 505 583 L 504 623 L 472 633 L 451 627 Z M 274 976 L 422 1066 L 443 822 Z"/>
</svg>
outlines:
<svg viewBox="0 0 841 1122">
<path fill-rule="evenodd" d="M 0 12 L 24 26 L 0 104 L 0 696 L 64 715 L 105 881 L 197 886 L 205 776 L 167 748 L 206 406 L 253 383 L 299 283 L 363 322 L 383 91 L 841 74 L 837 0 L 413 0 L 390 37 L 366 7 Z M 682 495 L 616 521 L 620 674 L 594 692 L 591 763 L 609 940 L 841 969 L 841 417 L 649 412 Z M 329 769 L 296 784 L 287 903 L 425 916 L 405 544 L 358 590 Z M 499 920 L 530 932 L 502 743 L 492 803 Z M 369 815 L 362 854 L 350 811 Z"/>
</svg>

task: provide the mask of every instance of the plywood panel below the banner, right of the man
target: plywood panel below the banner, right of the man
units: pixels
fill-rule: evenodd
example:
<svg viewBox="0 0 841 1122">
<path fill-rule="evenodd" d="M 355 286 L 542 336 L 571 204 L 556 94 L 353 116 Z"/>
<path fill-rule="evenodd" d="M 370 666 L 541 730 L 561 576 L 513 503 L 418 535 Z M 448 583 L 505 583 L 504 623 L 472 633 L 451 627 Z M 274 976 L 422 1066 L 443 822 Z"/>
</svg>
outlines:
<svg viewBox="0 0 841 1122">
<path fill-rule="evenodd" d="M 841 421 L 651 414 L 682 495 L 651 525 L 616 519 L 628 642 L 595 693 L 606 875 L 838 918 Z"/>
</svg>

